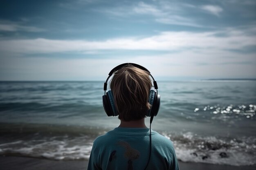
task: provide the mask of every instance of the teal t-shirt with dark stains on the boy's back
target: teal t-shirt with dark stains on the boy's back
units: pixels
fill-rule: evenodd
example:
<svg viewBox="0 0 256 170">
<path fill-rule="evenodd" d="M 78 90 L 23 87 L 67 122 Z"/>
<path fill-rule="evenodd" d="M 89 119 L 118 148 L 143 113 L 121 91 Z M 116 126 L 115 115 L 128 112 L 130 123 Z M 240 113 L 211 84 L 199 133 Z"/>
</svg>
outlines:
<svg viewBox="0 0 256 170">
<path fill-rule="evenodd" d="M 150 150 L 149 128 L 115 128 L 95 139 L 88 170 L 144 170 Z M 147 170 L 179 170 L 172 142 L 151 131 Z"/>
</svg>

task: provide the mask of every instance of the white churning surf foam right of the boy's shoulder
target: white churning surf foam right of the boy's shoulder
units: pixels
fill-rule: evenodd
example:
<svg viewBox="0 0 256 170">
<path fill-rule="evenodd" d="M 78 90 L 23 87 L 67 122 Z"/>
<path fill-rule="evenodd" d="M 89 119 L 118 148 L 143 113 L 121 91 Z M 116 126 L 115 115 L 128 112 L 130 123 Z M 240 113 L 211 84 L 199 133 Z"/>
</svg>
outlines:
<svg viewBox="0 0 256 170">
<path fill-rule="evenodd" d="M 236 139 L 227 141 L 216 137 L 198 137 L 187 132 L 181 138 L 173 138 L 176 139 L 173 143 L 177 158 L 184 162 L 232 166 L 256 164 L 255 137 L 243 137 L 238 142 Z"/>
</svg>

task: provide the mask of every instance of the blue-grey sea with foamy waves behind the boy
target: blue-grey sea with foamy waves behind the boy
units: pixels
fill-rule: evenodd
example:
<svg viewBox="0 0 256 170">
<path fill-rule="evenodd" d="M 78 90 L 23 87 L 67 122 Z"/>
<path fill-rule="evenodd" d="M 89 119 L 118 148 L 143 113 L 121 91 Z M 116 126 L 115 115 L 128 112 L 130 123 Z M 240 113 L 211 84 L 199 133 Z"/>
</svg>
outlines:
<svg viewBox="0 0 256 170">
<path fill-rule="evenodd" d="M 256 81 L 158 86 L 152 129 L 173 141 L 178 159 L 256 163 Z M 0 82 L 0 154 L 88 159 L 95 137 L 119 125 L 104 112 L 103 94 L 103 82 Z"/>
</svg>

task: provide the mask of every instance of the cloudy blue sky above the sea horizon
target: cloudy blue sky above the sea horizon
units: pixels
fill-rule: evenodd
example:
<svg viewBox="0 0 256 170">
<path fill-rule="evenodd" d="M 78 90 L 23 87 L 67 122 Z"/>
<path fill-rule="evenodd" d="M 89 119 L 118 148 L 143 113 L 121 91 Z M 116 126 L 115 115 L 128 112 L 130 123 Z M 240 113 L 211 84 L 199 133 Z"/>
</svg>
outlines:
<svg viewBox="0 0 256 170">
<path fill-rule="evenodd" d="M 256 78 L 256 0 L 0 0 L 0 81 Z"/>
</svg>

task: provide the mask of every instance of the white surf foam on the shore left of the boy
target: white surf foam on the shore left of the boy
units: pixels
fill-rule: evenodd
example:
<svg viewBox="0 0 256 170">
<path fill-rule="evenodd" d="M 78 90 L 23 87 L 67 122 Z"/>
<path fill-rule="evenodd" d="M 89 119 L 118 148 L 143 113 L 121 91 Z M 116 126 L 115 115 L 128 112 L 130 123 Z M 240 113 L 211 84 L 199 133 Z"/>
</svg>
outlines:
<svg viewBox="0 0 256 170">
<path fill-rule="evenodd" d="M 1 144 L 0 154 L 44 157 L 54 160 L 89 159 L 93 139 L 88 136 L 57 136 Z"/>
</svg>

